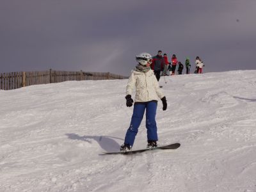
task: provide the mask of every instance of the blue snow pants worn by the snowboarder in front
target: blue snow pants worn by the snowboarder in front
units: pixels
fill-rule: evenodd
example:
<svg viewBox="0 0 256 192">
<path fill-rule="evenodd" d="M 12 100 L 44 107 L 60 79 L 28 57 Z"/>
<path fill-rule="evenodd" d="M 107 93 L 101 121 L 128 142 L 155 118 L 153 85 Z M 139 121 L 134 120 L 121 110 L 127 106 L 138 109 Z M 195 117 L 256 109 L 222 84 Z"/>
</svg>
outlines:
<svg viewBox="0 0 256 192">
<path fill-rule="evenodd" d="M 135 103 L 133 114 L 129 129 L 127 129 L 124 143 L 133 145 L 138 128 L 140 127 L 141 120 L 146 109 L 146 128 L 147 139 L 157 141 L 157 127 L 156 127 L 156 108 L 157 102 L 150 101 L 145 103 Z"/>
</svg>

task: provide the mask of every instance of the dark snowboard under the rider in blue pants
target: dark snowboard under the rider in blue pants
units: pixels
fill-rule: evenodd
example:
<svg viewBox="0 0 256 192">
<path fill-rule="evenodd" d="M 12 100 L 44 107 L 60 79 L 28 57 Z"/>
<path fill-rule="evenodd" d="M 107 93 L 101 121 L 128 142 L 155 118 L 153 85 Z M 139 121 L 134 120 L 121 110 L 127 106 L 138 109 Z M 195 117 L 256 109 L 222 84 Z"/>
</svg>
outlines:
<svg viewBox="0 0 256 192">
<path fill-rule="evenodd" d="M 165 149 L 176 149 L 180 147 L 180 143 L 173 143 L 170 145 L 162 145 L 159 147 L 155 148 L 143 148 L 143 149 L 138 149 L 138 150 L 129 150 L 129 151 L 118 151 L 118 152 L 104 152 L 104 155 L 116 155 L 116 154 L 124 154 L 124 155 L 129 155 L 129 154 L 136 154 L 136 153 L 141 153 L 145 152 L 147 150 L 165 150 Z"/>
</svg>

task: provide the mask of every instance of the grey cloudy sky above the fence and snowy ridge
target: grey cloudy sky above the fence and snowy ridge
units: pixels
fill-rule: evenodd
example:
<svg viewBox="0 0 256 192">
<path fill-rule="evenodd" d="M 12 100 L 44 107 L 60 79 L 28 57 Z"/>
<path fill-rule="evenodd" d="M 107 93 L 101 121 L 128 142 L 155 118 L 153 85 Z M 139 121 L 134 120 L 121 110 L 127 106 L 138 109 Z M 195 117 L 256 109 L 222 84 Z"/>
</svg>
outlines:
<svg viewBox="0 0 256 192">
<path fill-rule="evenodd" d="M 0 0 L 0 72 L 128 75 L 159 49 L 204 72 L 256 69 L 255 18 L 255 0 Z"/>
</svg>

